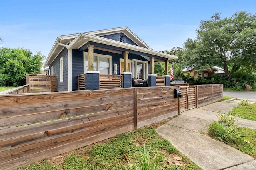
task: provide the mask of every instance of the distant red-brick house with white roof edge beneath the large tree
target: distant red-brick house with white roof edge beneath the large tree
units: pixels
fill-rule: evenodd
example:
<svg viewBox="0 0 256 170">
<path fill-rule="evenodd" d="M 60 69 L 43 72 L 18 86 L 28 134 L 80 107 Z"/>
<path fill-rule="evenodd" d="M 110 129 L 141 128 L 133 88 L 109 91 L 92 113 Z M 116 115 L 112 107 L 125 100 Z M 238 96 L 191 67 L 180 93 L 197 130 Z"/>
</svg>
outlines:
<svg viewBox="0 0 256 170">
<path fill-rule="evenodd" d="M 190 76 L 194 76 L 194 78 L 207 78 L 211 77 L 213 74 L 224 74 L 224 69 L 212 66 L 210 69 L 201 69 L 201 70 L 195 70 L 194 68 L 185 68 L 182 70 L 184 74 L 190 74 Z"/>
</svg>

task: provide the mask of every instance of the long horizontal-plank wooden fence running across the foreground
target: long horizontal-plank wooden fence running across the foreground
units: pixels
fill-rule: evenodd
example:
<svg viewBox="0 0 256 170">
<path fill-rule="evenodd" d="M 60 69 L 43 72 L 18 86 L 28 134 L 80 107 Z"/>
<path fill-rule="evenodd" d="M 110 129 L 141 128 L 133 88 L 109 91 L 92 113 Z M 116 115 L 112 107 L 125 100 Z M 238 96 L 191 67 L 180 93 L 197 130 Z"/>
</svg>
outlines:
<svg viewBox="0 0 256 170">
<path fill-rule="evenodd" d="M 181 99 L 174 98 L 179 87 L 0 95 L 0 169 L 56 156 L 194 108 L 198 86 L 181 87 Z M 213 87 L 217 100 L 222 94 L 219 86 Z"/>
</svg>

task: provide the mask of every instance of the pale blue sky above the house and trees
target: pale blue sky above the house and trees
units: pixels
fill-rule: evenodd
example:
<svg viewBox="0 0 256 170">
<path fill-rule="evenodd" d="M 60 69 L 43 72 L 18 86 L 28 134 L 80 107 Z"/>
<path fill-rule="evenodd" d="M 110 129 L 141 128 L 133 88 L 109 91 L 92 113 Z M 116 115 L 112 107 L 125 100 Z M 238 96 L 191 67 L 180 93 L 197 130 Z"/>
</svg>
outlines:
<svg viewBox="0 0 256 170">
<path fill-rule="evenodd" d="M 0 0 L 2 47 L 41 51 L 56 37 L 127 26 L 156 51 L 182 47 L 216 12 L 256 13 L 256 0 Z"/>
</svg>

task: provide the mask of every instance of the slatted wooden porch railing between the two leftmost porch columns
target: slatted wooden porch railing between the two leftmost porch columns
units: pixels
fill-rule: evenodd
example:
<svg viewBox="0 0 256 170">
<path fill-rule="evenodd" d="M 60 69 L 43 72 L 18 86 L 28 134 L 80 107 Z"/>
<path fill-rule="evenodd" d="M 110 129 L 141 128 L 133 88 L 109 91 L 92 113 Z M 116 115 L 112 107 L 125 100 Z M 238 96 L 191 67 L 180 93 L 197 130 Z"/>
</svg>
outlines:
<svg viewBox="0 0 256 170">
<path fill-rule="evenodd" d="M 123 88 L 122 75 L 100 75 L 100 89 Z"/>
</svg>

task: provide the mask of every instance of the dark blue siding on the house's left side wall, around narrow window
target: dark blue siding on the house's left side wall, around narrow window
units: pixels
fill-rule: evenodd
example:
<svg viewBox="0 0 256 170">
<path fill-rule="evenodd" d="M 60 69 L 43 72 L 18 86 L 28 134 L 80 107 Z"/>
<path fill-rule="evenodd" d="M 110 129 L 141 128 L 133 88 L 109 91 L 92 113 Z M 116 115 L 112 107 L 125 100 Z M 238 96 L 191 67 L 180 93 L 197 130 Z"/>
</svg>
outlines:
<svg viewBox="0 0 256 170">
<path fill-rule="evenodd" d="M 63 82 L 60 82 L 60 58 L 63 57 Z M 68 91 L 68 50 L 66 47 L 58 54 L 50 64 L 53 67 L 53 75 L 57 77 L 57 91 Z"/>
</svg>

